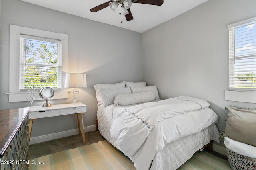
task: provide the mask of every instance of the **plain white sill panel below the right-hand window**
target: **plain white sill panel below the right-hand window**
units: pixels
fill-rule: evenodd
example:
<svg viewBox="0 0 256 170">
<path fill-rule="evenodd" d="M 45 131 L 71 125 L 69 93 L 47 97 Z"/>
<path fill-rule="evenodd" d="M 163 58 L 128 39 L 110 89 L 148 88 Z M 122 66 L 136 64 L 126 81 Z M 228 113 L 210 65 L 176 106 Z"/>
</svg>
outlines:
<svg viewBox="0 0 256 170">
<path fill-rule="evenodd" d="M 225 100 L 256 103 L 256 92 L 225 91 Z"/>
</svg>

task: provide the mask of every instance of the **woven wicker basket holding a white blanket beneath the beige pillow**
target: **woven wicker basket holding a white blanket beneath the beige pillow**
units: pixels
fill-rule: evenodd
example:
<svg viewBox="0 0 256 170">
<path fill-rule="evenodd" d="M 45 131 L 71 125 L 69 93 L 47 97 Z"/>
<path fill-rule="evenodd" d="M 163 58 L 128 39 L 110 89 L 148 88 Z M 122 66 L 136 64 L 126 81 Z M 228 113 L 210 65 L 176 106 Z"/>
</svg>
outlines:
<svg viewBox="0 0 256 170">
<path fill-rule="evenodd" d="M 226 147 L 228 162 L 232 170 L 256 170 L 256 159 L 243 156 Z"/>
</svg>

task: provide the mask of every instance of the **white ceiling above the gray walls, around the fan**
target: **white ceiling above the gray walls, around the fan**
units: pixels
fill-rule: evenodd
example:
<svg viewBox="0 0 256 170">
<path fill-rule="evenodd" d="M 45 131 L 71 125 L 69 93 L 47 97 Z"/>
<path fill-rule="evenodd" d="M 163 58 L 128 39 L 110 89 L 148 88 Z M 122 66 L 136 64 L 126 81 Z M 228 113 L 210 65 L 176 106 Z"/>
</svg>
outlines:
<svg viewBox="0 0 256 170">
<path fill-rule="evenodd" d="M 162 6 L 132 3 L 130 10 L 134 19 L 131 21 L 126 21 L 125 16 L 121 17 L 121 15 L 119 15 L 119 9 L 113 12 L 107 7 L 98 12 L 90 12 L 91 8 L 103 4 L 108 0 L 22 1 L 143 33 L 144 31 L 168 21 L 207 0 L 164 0 Z M 121 23 L 121 18 L 123 23 Z"/>
</svg>

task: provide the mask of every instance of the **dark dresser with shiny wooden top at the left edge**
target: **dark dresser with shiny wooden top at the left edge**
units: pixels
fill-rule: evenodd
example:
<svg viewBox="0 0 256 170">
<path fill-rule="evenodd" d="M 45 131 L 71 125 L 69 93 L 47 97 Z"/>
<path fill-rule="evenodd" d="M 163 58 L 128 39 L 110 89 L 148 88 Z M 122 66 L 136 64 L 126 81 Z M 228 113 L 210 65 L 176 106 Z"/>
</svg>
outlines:
<svg viewBox="0 0 256 170">
<path fill-rule="evenodd" d="M 28 111 L 0 110 L 0 170 L 28 170 Z"/>
</svg>

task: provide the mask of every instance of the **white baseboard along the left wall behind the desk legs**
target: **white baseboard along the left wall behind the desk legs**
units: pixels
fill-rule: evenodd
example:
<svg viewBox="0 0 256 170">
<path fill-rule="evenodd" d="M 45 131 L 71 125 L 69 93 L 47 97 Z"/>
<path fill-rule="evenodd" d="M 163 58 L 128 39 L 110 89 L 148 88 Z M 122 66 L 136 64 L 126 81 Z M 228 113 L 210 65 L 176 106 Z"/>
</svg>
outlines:
<svg viewBox="0 0 256 170">
<path fill-rule="evenodd" d="M 90 131 L 95 131 L 95 130 L 96 130 L 96 125 L 91 125 L 91 126 L 84 127 L 84 132 L 90 132 Z M 78 128 L 77 128 L 77 129 L 72 129 L 72 130 L 68 130 L 68 131 L 51 133 L 51 134 L 48 134 L 48 135 L 32 137 L 32 138 L 30 138 L 29 145 L 32 145 L 32 144 L 35 144 L 35 143 L 40 143 L 40 142 L 45 142 L 45 141 L 50 141 L 50 140 L 58 139 L 58 138 L 62 138 L 62 137 L 77 135 L 78 133 L 79 132 L 78 132 Z"/>
</svg>

